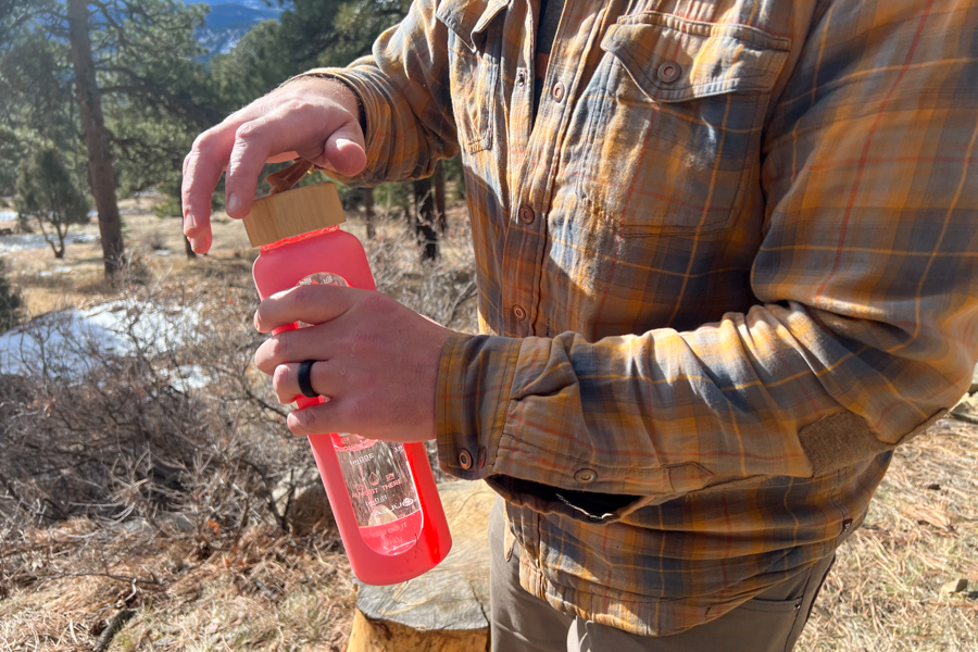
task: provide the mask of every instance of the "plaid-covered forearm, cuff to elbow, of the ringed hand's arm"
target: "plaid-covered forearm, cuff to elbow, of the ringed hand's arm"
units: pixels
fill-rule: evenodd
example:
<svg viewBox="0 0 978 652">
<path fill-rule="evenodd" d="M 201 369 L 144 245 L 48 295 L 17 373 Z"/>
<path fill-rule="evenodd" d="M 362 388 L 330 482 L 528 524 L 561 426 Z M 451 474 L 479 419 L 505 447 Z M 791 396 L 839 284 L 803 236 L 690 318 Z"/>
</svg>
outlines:
<svg viewBox="0 0 978 652">
<path fill-rule="evenodd" d="M 593 343 L 457 337 L 439 375 L 440 463 L 463 478 L 641 504 L 747 478 L 825 475 L 940 414 L 974 362 L 887 355 L 820 318 L 774 304 L 692 333 Z M 507 498 L 540 510 L 549 500 L 536 490 Z"/>
</svg>

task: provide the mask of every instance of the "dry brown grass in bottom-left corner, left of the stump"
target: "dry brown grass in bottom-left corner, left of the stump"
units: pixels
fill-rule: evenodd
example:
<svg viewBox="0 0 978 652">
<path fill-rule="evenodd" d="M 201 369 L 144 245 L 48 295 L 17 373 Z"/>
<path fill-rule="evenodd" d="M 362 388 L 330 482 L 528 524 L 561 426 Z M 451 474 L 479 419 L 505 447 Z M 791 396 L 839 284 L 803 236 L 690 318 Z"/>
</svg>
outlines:
<svg viewBox="0 0 978 652">
<path fill-rule="evenodd" d="M 88 522 L 24 535 L 36 560 L 8 579 L 0 650 L 90 650 L 121 609 L 135 617 L 110 650 L 338 652 L 346 642 L 354 592 L 335 537 L 255 527 L 214 551 L 206 539 Z"/>
</svg>

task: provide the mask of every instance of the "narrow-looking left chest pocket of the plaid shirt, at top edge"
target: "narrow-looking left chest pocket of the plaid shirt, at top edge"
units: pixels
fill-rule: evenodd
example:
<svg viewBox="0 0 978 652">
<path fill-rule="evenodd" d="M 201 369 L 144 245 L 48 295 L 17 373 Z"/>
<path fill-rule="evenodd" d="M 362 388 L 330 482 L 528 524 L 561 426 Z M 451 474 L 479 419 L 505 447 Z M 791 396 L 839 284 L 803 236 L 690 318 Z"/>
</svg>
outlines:
<svg viewBox="0 0 978 652">
<path fill-rule="evenodd" d="M 492 148 L 492 106 L 500 87 L 503 13 L 507 0 L 449 0 L 436 18 L 449 28 L 449 76 L 459 145 Z"/>
</svg>

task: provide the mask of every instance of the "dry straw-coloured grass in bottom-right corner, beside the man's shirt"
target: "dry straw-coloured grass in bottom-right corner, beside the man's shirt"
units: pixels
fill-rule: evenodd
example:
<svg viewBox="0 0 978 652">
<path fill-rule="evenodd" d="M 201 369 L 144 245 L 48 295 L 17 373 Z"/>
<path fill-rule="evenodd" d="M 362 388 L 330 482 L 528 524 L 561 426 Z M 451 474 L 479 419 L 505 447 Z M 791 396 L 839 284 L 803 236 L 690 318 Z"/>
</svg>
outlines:
<svg viewBox="0 0 978 652">
<path fill-rule="evenodd" d="M 940 422 L 898 449 L 839 550 L 798 650 L 978 650 L 978 427 Z M 943 593 L 958 578 L 969 591 Z"/>
</svg>

